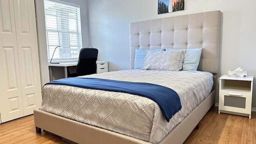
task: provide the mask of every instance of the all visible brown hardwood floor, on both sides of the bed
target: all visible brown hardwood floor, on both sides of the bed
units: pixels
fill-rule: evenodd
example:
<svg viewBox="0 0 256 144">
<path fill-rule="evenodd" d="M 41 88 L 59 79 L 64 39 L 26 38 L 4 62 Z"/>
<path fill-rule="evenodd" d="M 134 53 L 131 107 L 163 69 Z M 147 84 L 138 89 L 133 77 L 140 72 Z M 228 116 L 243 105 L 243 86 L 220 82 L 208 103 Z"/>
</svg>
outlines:
<svg viewBox="0 0 256 144">
<path fill-rule="evenodd" d="M 34 116 L 25 116 L 0 124 L 0 144 L 68 144 L 59 136 L 37 134 Z M 231 114 L 218 114 L 212 107 L 184 144 L 256 144 L 256 112 L 252 119 Z"/>
</svg>

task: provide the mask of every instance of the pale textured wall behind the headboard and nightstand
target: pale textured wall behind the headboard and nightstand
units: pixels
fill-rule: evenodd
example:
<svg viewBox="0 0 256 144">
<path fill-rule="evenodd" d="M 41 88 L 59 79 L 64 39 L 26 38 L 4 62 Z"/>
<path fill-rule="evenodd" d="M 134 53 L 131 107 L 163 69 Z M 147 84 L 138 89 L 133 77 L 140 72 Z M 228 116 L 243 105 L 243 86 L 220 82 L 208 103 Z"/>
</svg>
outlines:
<svg viewBox="0 0 256 144">
<path fill-rule="evenodd" d="M 88 0 L 90 45 L 99 49 L 99 60 L 109 61 L 109 70 L 130 68 L 129 23 L 169 16 L 220 10 L 222 33 L 220 70 L 242 67 L 256 76 L 256 0 L 186 0 L 185 10 L 157 14 L 158 0 Z M 255 79 L 254 79 L 255 80 Z M 252 107 L 256 108 L 256 84 Z M 218 97 L 216 97 L 218 102 Z"/>
</svg>

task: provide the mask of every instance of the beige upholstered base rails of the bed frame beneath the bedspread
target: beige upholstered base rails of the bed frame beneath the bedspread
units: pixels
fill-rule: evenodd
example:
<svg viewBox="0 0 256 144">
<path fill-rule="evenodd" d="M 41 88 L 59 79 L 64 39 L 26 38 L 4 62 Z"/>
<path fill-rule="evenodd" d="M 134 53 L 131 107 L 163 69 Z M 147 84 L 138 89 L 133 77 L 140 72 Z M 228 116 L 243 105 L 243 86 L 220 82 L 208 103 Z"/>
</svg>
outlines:
<svg viewBox="0 0 256 144">
<path fill-rule="evenodd" d="M 182 144 L 215 102 L 215 90 L 184 118 L 159 144 Z M 137 138 L 83 124 L 55 114 L 34 110 L 36 132 L 41 129 L 78 144 L 150 144 Z"/>
</svg>

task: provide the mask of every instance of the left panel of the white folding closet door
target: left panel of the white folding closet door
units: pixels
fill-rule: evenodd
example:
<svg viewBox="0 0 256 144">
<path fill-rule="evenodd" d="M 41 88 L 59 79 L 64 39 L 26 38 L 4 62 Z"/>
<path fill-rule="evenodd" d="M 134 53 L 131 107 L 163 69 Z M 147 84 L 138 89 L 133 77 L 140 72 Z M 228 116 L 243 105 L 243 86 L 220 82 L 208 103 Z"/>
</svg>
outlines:
<svg viewBox="0 0 256 144">
<path fill-rule="evenodd" d="M 12 0 L 0 0 L 0 112 L 2 122 L 23 116 Z"/>
</svg>

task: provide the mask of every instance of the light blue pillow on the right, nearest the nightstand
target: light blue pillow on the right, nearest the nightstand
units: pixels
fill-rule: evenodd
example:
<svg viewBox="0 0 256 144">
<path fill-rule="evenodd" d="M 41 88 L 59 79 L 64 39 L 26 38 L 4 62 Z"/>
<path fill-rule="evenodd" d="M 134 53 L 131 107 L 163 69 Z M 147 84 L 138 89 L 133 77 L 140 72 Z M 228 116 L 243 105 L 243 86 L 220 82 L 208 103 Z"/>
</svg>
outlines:
<svg viewBox="0 0 256 144">
<path fill-rule="evenodd" d="M 172 51 L 176 49 L 166 48 L 166 51 Z M 184 54 L 184 60 L 182 63 L 182 70 L 197 70 L 200 57 L 202 54 L 202 48 L 186 49 Z"/>
</svg>

